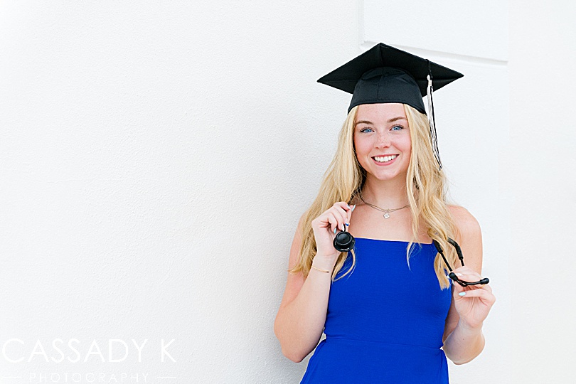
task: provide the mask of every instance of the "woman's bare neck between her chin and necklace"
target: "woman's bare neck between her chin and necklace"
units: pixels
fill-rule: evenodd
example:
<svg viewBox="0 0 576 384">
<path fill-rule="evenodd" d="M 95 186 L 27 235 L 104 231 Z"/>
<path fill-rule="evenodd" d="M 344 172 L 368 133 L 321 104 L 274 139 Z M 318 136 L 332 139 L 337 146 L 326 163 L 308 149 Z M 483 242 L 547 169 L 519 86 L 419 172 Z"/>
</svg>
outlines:
<svg viewBox="0 0 576 384">
<path fill-rule="evenodd" d="M 362 188 L 362 197 L 366 202 L 384 209 L 406 206 L 408 204 L 406 179 L 395 178 L 383 181 L 368 177 Z"/>
</svg>

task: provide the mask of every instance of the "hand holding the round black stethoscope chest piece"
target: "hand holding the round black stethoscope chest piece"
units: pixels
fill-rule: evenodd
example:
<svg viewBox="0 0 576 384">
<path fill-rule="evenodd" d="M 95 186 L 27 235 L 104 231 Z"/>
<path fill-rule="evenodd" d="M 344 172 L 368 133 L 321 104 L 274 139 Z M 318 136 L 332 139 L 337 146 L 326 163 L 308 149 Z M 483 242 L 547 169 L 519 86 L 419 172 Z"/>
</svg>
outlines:
<svg viewBox="0 0 576 384">
<path fill-rule="evenodd" d="M 356 206 L 348 206 L 344 201 L 334 203 L 329 209 L 312 220 L 312 230 L 316 239 L 316 257 L 321 257 L 327 261 L 334 261 L 340 254 L 334 248 L 334 238 L 338 231 L 344 230 L 350 225 L 352 211 Z M 316 259 L 316 257 L 314 257 Z"/>
</svg>

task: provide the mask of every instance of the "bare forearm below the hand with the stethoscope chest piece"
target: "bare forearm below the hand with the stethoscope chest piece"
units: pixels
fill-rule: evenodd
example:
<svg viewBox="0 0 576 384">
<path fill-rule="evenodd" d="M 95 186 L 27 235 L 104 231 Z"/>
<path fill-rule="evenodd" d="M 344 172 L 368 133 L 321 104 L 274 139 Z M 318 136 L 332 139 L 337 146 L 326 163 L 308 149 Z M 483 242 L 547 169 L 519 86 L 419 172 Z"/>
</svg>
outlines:
<svg viewBox="0 0 576 384">
<path fill-rule="evenodd" d="M 321 270 L 332 270 L 334 262 L 314 262 Z M 316 347 L 324 330 L 332 274 L 312 268 L 302 289 L 292 302 L 279 309 L 274 334 L 282 353 L 292 361 L 302 361 Z"/>
</svg>

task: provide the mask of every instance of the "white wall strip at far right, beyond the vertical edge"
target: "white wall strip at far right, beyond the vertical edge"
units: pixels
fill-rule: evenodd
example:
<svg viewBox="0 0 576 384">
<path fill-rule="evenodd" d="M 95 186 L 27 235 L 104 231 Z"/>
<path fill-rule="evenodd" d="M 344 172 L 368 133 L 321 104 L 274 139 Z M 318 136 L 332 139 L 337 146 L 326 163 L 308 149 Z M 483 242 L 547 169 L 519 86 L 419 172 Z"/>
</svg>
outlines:
<svg viewBox="0 0 576 384">
<path fill-rule="evenodd" d="M 576 3 L 510 2 L 513 374 L 573 383 L 576 361 Z"/>
</svg>

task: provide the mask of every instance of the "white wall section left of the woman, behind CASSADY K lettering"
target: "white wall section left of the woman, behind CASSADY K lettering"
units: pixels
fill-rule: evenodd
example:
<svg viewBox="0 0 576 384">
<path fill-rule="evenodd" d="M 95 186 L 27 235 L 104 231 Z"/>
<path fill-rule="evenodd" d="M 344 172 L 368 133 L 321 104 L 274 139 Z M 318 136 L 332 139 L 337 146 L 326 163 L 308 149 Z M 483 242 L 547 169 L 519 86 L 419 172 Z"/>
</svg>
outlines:
<svg viewBox="0 0 576 384">
<path fill-rule="evenodd" d="M 358 53 L 357 4 L 0 6 L 0 341 L 58 359 L 52 341 L 76 338 L 83 361 L 95 339 L 106 360 L 1 357 L 0 382 L 297 380 L 272 324 L 346 114 L 316 79 Z M 132 338 L 148 339 L 142 363 Z"/>
</svg>

